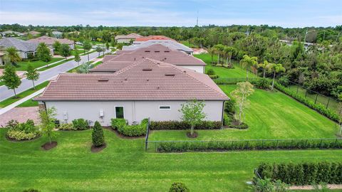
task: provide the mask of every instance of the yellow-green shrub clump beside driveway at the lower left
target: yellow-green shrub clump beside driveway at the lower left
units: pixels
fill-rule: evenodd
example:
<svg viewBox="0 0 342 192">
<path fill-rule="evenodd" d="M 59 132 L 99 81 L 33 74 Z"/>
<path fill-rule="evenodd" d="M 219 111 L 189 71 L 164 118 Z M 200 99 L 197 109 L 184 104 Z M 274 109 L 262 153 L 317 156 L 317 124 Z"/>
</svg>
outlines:
<svg viewBox="0 0 342 192">
<path fill-rule="evenodd" d="M 6 127 L 9 128 L 6 136 L 17 141 L 34 139 L 40 135 L 38 128 L 31 119 L 28 119 L 25 123 L 11 120 Z"/>
</svg>

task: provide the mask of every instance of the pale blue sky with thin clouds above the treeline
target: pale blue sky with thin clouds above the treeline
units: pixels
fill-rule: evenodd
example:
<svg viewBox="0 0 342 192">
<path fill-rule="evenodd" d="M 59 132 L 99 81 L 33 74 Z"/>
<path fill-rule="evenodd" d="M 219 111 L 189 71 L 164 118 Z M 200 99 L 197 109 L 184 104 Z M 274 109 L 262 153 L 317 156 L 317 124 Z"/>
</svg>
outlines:
<svg viewBox="0 0 342 192">
<path fill-rule="evenodd" d="M 342 25 L 342 0 L 0 0 L 0 23 L 44 26 Z"/>
</svg>

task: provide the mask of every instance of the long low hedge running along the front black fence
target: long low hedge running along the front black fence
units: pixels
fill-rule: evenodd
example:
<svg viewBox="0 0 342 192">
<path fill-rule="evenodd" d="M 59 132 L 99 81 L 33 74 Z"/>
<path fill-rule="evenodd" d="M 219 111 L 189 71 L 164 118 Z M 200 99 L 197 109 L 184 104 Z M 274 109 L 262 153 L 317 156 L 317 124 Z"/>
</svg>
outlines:
<svg viewBox="0 0 342 192">
<path fill-rule="evenodd" d="M 342 149 L 342 139 L 284 139 L 207 142 L 157 142 L 158 152 Z"/>
</svg>

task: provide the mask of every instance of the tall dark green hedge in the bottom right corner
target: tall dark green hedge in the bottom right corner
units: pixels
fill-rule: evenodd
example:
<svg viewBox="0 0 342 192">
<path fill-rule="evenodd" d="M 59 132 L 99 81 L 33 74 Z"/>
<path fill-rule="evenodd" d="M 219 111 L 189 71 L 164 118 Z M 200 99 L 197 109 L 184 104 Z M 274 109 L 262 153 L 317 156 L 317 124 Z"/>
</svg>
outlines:
<svg viewBox="0 0 342 192">
<path fill-rule="evenodd" d="M 342 162 L 301 164 L 260 164 L 256 177 L 271 178 L 284 183 L 304 186 L 313 183 L 342 184 Z"/>
</svg>

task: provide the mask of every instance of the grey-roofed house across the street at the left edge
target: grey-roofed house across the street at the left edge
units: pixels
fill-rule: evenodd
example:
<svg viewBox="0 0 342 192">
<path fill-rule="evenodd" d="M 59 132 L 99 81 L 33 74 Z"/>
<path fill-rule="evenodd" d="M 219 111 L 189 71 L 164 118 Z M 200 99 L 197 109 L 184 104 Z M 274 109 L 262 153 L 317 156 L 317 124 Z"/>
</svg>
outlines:
<svg viewBox="0 0 342 192">
<path fill-rule="evenodd" d="M 28 58 L 28 54 L 36 54 L 38 43 L 24 41 L 17 38 L 1 38 L 0 47 L 15 47 L 19 51 L 21 58 Z"/>
</svg>

